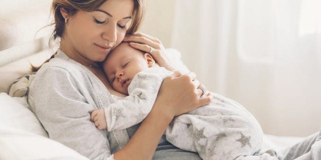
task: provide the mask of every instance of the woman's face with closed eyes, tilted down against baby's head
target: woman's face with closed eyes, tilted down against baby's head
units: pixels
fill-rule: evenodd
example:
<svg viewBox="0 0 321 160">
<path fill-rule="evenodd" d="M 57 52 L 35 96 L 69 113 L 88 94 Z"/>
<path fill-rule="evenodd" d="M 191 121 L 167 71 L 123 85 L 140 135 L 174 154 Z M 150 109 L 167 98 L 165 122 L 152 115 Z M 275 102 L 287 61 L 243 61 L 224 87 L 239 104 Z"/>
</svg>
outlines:
<svg viewBox="0 0 321 160">
<path fill-rule="evenodd" d="M 66 23 L 63 51 L 78 61 L 103 61 L 123 40 L 133 5 L 133 0 L 106 0 L 96 11 L 79 10 Z"/>
</svg>

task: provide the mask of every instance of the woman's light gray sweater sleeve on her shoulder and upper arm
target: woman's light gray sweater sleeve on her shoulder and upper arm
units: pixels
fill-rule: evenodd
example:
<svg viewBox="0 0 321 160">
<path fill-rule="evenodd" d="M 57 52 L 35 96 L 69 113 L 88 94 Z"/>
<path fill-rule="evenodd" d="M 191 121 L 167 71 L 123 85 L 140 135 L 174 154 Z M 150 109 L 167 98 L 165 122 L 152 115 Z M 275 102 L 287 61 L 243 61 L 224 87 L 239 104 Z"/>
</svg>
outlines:
<svg viewBox="0 0 321 160">
<path fill-rule="evenodd" d="M 113 159 L 106 131 L 90 121 L 95 106 L 84 96 L 84 78 L 62 67 L 43 66 L 35 80 L 35 112 L 49 137 L 90 159 Z"/>
</svg>

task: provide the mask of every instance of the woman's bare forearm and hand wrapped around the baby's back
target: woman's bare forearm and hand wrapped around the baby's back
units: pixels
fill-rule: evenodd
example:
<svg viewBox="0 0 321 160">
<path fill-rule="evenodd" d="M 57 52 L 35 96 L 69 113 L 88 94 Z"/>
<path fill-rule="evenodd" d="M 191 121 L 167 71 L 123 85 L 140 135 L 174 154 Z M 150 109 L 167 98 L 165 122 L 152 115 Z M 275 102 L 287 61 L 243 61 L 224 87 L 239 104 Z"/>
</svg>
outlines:
<svg viewBox="0 0 321 160">
<path fill-rule="evenodd" d="M 210 97 L 199 97 L 194 74 L 176 72 L 164 79 L 150 113 L 128 143 L 114 153 L 119 159 L 151 159 L 159 140 L 174 116 L 208 104 Z"/>
</svg>

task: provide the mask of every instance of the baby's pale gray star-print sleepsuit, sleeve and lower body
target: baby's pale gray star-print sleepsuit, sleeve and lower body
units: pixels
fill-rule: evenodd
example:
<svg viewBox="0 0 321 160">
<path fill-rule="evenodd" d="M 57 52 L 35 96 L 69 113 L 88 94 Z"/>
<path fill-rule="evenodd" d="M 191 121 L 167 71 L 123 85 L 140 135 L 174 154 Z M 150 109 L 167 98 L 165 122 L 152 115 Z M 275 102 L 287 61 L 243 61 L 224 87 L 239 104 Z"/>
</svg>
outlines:
<svg viewBox="0 0 321 160">
<path fill-rule="evenodd" d="M 145 118 L 163 79 L 163 67 L 143 70 L 128 87 L 129 96 L 105 108 L 108 131 L 124 129 Z M 261 148 L 263 131 L 255 117 L 232 99 L 213 93 L 212 102 L 173 119 L 166 138 L 173 145 L 198 152 L 202 159 L 236 159 Z"/>
</svg>

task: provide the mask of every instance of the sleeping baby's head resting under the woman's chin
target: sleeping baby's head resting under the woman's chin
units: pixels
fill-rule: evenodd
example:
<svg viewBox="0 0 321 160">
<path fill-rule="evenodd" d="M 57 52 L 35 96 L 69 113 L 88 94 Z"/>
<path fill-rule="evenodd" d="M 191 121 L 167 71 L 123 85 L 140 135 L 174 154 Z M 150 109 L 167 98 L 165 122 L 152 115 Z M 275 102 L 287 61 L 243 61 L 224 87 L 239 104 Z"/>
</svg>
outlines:
<svg viewBox="0 0 321 160">
<path fill-rule="evenodd" d="M 158 65 L 149 53 L 131 47 L 128 42 L 120 43 L 103 62 L 103 69 L 112 87 L 126 95 L 135 74 L 153 66 Z"/>
</svg>

